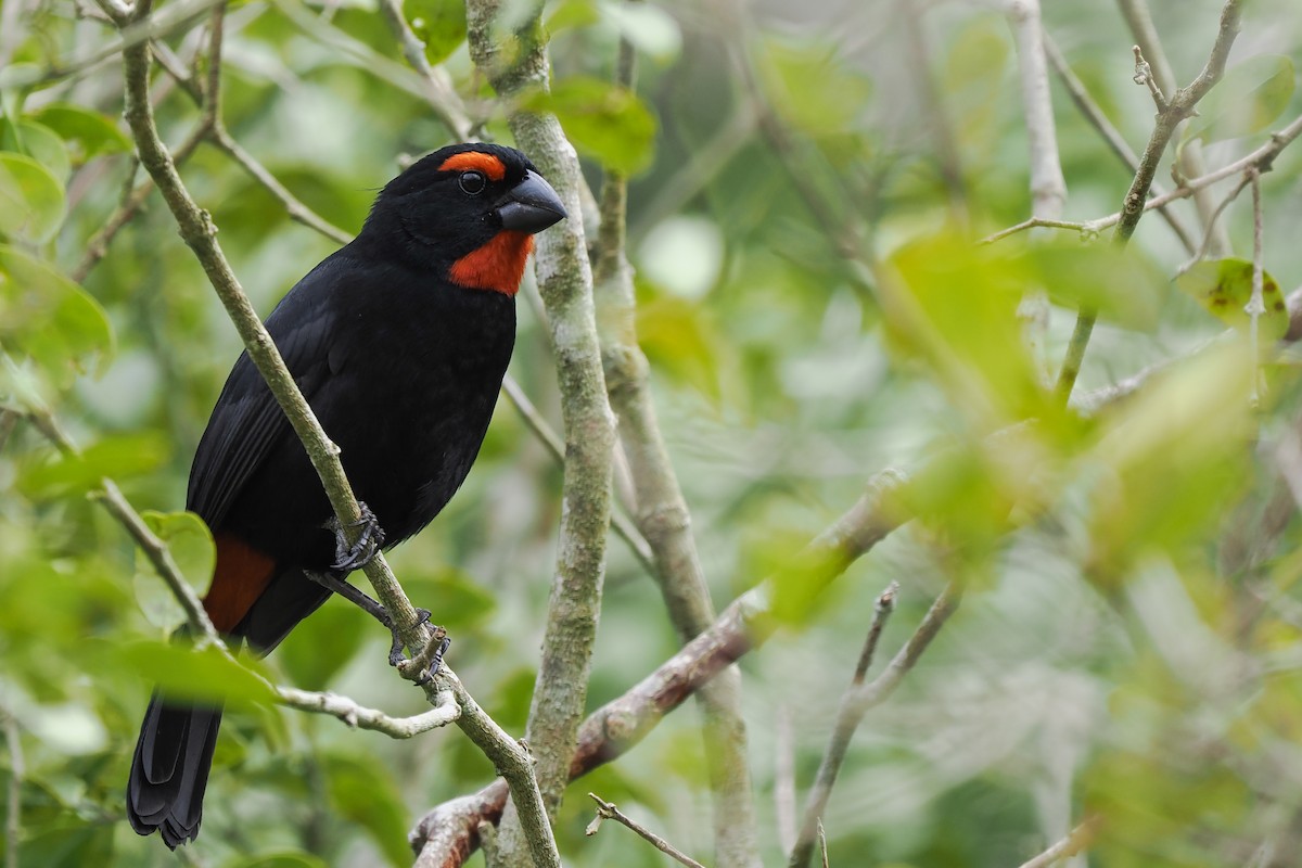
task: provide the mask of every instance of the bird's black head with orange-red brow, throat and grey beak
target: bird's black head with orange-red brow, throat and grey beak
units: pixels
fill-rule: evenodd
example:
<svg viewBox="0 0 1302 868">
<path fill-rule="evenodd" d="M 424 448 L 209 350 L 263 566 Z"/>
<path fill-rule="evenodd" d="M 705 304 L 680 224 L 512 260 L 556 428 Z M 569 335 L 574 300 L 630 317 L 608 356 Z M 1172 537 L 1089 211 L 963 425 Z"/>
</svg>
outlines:
<svg viewBox="0 0 1302 868">
<path fill-rule="evenodd" d="M 501 144 L 452 144 L 422 157 L 375 199 L 363 234 L 453 284 L 514 295 L 534 233 L 565 219 L 534 164 Z"/>
</svg>

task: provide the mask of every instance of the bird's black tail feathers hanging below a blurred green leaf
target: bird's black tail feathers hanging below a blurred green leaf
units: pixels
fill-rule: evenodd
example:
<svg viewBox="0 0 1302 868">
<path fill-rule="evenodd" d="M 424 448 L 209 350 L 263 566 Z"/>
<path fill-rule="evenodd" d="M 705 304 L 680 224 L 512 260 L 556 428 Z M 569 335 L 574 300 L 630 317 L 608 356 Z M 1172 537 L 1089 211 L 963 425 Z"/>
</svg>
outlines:
<svg viewBox="0 0 1302 868">
<path fill-rule="evenodd" d="M 220 707 L 186 705 L 154 695 L 126 782 L 126 816 L 137 833 L 147 835 L 158 829 L 172 850 L 198 837 L 220 725 Z"/>
</svg>

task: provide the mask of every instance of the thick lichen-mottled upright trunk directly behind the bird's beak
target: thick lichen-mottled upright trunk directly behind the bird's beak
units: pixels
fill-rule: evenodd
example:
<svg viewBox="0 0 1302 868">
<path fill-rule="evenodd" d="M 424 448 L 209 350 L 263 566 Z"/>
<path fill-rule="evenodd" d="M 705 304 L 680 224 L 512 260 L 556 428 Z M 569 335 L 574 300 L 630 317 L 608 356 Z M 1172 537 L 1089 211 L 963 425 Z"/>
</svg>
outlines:
<svg viewBox="0 0 1302 868">
<path fill-rule="evenodd" d="M 548 60 L 540 7 L 516 34 L 510 65 L 495 35 L 499 0 L 466 4 L 470 57 L 505 100 L 525 88 L 547 90 Z M 574 738 L 587 700 L 592 643 L 605 576 L 611 522 L 611 455 L 615 426 L 605 397 L 592 312 L 592 275 L 579 215 L 579 167 L 574 147 L 551 115 L 512 111 L 516 143 L 552 182 L 572 215 L 539 238 L 538 288 L 556 359 L 565 431 L 565 480 L 556 574 L 548 603 L 543 656 L 529 712 L 527 738 L 538 760 L 538 785 L 555 816 L 568 782 Z M 508 808 L 497 835 L 503 864 L 521 864 L 519 829 Z"/>
</svg>

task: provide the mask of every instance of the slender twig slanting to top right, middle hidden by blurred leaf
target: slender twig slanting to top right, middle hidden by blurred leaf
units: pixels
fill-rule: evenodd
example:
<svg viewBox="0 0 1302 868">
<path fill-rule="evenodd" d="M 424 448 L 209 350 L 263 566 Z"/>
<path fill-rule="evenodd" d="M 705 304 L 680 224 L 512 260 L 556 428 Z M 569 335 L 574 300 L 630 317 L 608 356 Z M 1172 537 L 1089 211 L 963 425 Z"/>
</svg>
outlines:
<svg viewBox="0 0 1302 868">
<path fill-rule="evenodd" d="M 1157 121 L 1154 125 L 1152 135 L 1148 138 L 1148 146 L 1139 159 L 1139 169 L 1130 183 L 1130 190 L 1126 191 L 1121 208 L 1121 219 L 1112 234 L 1113 243 L 1124 247 L 1130 241 L 1130 236 L 1134 234 L 1135 226 L 1139 225 L 1139 217 L 1143 216 L 1147 208 L 1154 207 L 1151 203 L 1156 202 L 1156 199 L 1148 199 L 1148 189 L 1152 186 L 1157 164 L 1161 163 L 1161 156 L 1167 150 L 1168 142 L 1170 142 L 1170 137 L 1181 121 L 1194 113 L 1198 100 L 1225 74 L 1225 61 L 1229 57 L 1230 47 L 1234 44 L 1234 36 L 1238 35 L 1241 7 L 1242 0 L 1226 0 L 1225 7 L 1221 9 L 1220 30 L 1216 35 L 1216 42 L 1212 44 L 1211 56 L 1207 59 L 1206 66 L 1203 66 L 1203 70 L 1187 87 L 1177 90 L 1169 100 L 1165 100 L 1161 111 L 1157 112 Z M 1147 81 L 1152 82 L 1151 74 L 1147 77 Z M 1056 388 L 1064 403 L 1072 397 L 1075 379 L 1081 373 L 1085 350 L 1090 344 L 1090 334 L 1094 332 L 1096 319 L 1096 311 L 1083 307 L 1077 315 L 1075 328 L 1072 332 L 1072 341 L 1068 345 L 1066 358 L 1062 360 Z"/>
</svg>

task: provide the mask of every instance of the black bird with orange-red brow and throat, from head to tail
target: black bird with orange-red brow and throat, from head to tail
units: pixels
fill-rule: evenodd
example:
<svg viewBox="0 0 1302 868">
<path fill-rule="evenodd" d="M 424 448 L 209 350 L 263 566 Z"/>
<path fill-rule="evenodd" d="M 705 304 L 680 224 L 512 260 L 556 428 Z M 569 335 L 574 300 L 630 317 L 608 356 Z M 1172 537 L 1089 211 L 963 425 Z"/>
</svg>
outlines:
<svg viewBox="0 0 1302 868">
<path fill-rule="evenodd" d="M 514 344 L 529 234 L 562 217 L 518 151 L 443 148 L 391 181 L 358 237 L 267 319 L 385 547 L 424 527 L 470 471 Z M 219 630 L 267 653 L 329 596 L 303 576 L 336 558 L 329 504 L 247 353 L 201 439 L 186 508 L 217 541 L 204 605 Z M 155 695 L 128 783 L 137 832 L 159 829 L 169 847 L 198 834 L 220 720 Z"/>
</svg>

